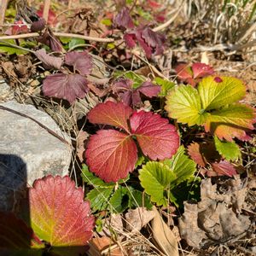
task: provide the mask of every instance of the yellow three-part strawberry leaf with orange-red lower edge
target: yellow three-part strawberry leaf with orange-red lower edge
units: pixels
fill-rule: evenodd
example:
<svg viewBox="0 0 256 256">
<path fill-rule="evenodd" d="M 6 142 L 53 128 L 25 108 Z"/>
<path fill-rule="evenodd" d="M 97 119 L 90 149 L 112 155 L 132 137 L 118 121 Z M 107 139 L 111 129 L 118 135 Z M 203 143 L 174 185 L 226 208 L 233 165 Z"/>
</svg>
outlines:
<svg viewBox="0 0 256 256">
<path fill-rule="evenodd" d="M 246 86 L 239 79 L 209 76 L 197 88 L 179 85 L 167 96 L 169 117 L 182 124 L 203 125 L 219 139 L 248 140 L 253 130 L 253 108 L 242 104 Z"/>
</svg>

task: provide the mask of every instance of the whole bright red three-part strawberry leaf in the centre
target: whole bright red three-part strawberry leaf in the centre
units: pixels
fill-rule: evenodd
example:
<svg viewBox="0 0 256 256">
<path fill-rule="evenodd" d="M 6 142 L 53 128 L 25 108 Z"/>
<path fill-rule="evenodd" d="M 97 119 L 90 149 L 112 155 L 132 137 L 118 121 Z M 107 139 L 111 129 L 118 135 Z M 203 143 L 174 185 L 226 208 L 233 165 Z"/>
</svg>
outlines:
<svg viewBox="0 0 256 256">
<path fill-rule="evenodd" d="M 85 151 L 90 171 L 105 182 L 117 182 L 134 171 L 136 141 L 143 154 L 151 160 L 172 157 L 179 145 L 176 128 L 169 124 L 168 119 L 161 118 L 159 114 L 133 111 L 123 103 L 100 103 L 90 110 L 88 119 L 93 124 L 113 125 L 121 129 L 97 131 L 90 137 Z"/>
</svg>

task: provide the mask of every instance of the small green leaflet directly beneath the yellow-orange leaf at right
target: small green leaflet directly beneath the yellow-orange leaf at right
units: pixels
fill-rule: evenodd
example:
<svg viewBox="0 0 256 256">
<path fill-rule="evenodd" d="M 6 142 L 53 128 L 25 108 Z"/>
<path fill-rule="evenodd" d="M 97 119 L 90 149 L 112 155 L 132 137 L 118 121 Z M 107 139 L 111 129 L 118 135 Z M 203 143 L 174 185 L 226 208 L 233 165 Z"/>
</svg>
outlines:
<svg viewBox="0 0 256 256">
<path fill-rule="evenodd" d="M 237 160 L 241 157 L 239 146 L 236 143 L 221 141 L 217 136 L 214 136 L 214 143 L 218 153 L 226 160 Z"/>
</svg>

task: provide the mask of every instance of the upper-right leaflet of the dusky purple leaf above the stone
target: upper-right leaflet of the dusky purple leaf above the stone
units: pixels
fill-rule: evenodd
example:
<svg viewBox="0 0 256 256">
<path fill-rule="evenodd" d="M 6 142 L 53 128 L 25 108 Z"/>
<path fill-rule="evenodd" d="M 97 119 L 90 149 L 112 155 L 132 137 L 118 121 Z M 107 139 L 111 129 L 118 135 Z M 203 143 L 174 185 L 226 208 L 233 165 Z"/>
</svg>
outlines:
<svg viewBox="0 0 256 256">
<path fill-rule="evenodd" d="M 87 51 L 70 51 L 65 55 L 65 63 L 73 66 L 74 71 L 78 71 L 81 75 L 88 75 L 92 70 L 91 56 Z"/>
</svg>

